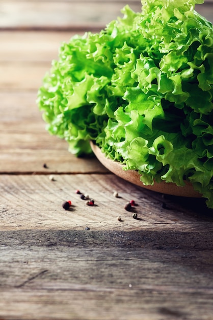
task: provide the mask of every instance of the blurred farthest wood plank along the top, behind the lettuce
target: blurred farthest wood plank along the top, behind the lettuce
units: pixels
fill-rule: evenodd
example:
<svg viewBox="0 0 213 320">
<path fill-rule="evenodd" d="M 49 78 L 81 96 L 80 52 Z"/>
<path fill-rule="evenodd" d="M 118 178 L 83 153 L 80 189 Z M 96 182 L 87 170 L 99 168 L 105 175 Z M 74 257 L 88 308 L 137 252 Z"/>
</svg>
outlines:
<svg viewBox="0 0 213 320">
<path fill-rule="evenodd" d="M 104 28 L 111 20 L 122 17 L 123 2 L 1 2 L 0 28 Z M 134 11 L 141 11 L 140 1 L 132 2 Z"/>
</svg>

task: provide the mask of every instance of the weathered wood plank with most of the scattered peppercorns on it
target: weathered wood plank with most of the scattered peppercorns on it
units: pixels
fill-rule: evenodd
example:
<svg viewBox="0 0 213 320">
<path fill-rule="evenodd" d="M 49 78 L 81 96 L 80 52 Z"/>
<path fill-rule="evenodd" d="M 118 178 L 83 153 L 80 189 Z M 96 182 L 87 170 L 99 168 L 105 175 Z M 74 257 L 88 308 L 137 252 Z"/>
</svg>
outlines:
<svg viewBox="0 0 213 320">
<path fill-rule="evenodd" d="M 0 175 L 0 230 L 175 230 L 212 232 L 213 214 L 203 199 L 169 197 L 131 185 L 113 174 Z M 87 205 L 75 190 L 95 200 Z M 117 191 L 119 198 L 113 196 Z M 134 199 L 131 212 L 124 209 Z M 69 211 L 62 208 L 71 200 Z M 162 207 L 163 203 L 166 203 Z M 138 219 L 132 218 L 132 213 Z M 122 221 L 117 217 L 121 216 Z M 210 224 L 209 224 L 210 223 Z"/>
</svg>

